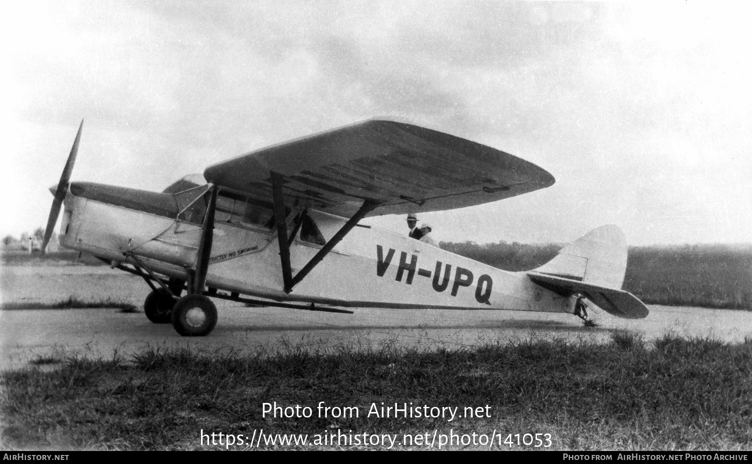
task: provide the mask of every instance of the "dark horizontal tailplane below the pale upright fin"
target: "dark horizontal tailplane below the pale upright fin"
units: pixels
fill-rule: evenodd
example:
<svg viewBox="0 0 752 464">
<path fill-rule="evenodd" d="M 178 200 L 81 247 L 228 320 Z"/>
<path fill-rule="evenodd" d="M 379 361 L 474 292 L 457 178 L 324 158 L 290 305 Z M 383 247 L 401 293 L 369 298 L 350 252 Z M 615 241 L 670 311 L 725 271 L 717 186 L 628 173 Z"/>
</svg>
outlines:
<svg viewBox="0 0 752 464">
<path fill-rule="evenodd" d="M 628 291 L 615 288 L 602 287 L 600 285 L 579 282 L 562 277 L 547 276 L 530 272 L 527 274 L 538 285 L 559 293 L 580 293 L 588 300 L 595 303 L 600 309 L 620 318 L 641 319 L 647 316 L 648 310 L 645 303 Z"/>
</svg>

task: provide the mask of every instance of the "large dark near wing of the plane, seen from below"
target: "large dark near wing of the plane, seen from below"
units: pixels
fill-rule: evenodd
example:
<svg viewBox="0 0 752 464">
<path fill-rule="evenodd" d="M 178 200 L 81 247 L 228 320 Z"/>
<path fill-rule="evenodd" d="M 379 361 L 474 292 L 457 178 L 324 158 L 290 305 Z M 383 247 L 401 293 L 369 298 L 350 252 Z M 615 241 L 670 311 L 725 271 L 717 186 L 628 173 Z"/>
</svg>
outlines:
<svg viewBox="0 0 752 464">
<path fill-rule="evenodd" d="M 473 206 L 553 185 L 546 170 L 514 155 L 417 125 L 368 120 L 269 146 L 204 171 L 215 185 L 351 217 Z"/>
</svg>

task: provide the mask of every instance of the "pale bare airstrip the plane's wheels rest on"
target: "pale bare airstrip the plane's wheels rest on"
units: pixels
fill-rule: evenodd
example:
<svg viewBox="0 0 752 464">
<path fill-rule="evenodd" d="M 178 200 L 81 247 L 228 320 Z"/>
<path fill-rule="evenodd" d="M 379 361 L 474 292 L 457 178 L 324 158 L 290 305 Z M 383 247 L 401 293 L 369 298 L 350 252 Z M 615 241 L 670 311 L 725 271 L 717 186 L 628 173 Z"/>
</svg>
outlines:
<svg viewBox="0 0 752 464">
<path fill-rule="evenodd" d="M 91 266 L 2 267 L 3 303 L 39 307 L 75 297 L 115 300 L 139 308 L 150 291 L 136 276 Z M 0 369 L 22 367 L 50 354 L 126 357 L 152 347 L 196 350 L 276 351 L 299 346 L 314 351 L 398 345 L 457 347 L 520 338 L 610 339 L 614 330 L 646 340 L 666 333 L 711 336 L 728 342 L 752 338 L 752 312 L 650 306 L 640 320 L 591 311 L 597 327 L 572 315 L 511 311 L 355 309 L 353 315 L 297 309 L 247 308 L 217 300 L 220 321 L 211 335 L 183 338 L 170 324 L 152 324 L 142 312 L 118 309 L 18 309 L 0 311 Z"/>
</svg>

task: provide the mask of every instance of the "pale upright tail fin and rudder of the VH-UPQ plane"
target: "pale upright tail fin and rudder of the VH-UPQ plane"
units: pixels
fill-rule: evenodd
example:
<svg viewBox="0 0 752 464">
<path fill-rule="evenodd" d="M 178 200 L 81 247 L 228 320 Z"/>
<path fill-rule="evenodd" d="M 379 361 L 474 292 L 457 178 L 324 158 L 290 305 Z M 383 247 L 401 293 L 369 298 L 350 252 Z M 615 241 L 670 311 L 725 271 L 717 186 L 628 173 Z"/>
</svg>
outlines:
<svg viewBox="0 0 752 464">
<path fill-rule="evenodd" d="M 604 225 L 565 246 L 537 273 L 620 289 L 626 273 L 626 238 L 615 225 Z"/>
</svg>

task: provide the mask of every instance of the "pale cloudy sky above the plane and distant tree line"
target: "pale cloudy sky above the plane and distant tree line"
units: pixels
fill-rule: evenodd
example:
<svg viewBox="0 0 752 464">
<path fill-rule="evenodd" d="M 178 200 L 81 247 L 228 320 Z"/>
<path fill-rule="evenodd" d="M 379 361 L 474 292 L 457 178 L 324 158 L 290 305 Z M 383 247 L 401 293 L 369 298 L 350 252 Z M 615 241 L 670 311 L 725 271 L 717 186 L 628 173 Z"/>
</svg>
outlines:
<svg viewBox="0 0 752 464">
<path fill-rule="evenodd" d="M 438 240 L 752 243 L 744 2 L 13 2 L 0 234 L 72 180 L 160 191 L 253 149 L 411 122 L 548 170 L 550 188 L 432 212 Z M 368 218 L 407 234 L 405 218 Z"/>
</svg>

